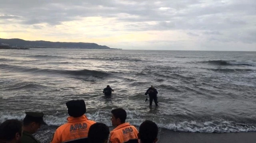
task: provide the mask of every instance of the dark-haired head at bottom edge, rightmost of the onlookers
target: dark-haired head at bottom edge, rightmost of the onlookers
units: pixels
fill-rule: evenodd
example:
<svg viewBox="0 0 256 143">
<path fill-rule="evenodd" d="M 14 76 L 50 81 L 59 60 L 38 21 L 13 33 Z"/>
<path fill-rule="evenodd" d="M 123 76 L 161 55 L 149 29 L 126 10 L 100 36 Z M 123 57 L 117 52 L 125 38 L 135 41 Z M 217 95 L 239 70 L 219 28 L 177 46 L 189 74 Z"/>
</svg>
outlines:
<svg viewBox="0 0 256 143">
<path fill-rule="evenodd" d="M 140 124 L 138 138 L 140 143 L 156 143 L 158 127 L 153 121 L 146 120 Z"/>
</svg>

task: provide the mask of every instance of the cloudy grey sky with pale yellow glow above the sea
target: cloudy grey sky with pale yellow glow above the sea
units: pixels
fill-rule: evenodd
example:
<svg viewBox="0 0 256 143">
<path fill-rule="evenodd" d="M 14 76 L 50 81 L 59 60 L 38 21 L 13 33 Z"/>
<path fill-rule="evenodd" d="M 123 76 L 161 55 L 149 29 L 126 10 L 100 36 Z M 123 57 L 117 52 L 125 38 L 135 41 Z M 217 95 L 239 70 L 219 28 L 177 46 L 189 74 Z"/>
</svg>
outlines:
<svg viewBox="0 0 256 143">
<path fill-rule="evenodd" d="M 256 0 L 0 0 L 0 38 L 256 51 Z"/>
</svg>

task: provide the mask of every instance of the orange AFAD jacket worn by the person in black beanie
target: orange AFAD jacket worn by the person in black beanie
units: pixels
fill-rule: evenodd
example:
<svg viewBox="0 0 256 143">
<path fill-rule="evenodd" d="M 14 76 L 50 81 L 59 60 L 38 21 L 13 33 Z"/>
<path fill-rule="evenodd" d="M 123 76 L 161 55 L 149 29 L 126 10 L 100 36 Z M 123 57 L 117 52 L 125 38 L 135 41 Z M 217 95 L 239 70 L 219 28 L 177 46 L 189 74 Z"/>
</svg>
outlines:
<svg viewBox="0 0 256 143">
<path fill-rule="evenodd" d="M 88 131 L 95 121 L 88 120 L 86 115 L 68 117 L 68 123 L 56 129 L 51 143 L 88 143 Z"/>
</svg>

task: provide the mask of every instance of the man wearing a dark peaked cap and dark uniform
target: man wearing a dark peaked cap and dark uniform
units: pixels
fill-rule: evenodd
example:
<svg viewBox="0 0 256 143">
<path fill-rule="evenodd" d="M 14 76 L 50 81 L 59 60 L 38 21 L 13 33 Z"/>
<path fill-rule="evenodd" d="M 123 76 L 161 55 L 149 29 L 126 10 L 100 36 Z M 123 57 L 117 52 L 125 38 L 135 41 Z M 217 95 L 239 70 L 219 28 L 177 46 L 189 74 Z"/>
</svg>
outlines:
<svg viewBox="0 0 256 143">
<path fill-rule="evenodd" d="M 23 134 L 22 143 L 40 143 L 32 135 L 41 127 L 41 125 L 46 125 L 43 120 L 44 113 L 42 112 L 25 112 L 26 117 L 23 119 Z"/>
</svg>

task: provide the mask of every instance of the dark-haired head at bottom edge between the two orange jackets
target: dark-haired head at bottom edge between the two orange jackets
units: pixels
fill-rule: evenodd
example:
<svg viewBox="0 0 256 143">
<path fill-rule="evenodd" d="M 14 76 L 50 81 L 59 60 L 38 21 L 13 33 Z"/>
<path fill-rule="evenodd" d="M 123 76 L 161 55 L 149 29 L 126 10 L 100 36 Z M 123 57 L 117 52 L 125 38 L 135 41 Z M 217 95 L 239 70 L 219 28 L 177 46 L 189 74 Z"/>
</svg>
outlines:
<svg viewBox="0 0 256 143">
<path fill-rule="evenodd" d="M 104 123 L 91 125 L 88 132 L 89 143 L 108 143 L 109 127 Z"/>
</svg>

